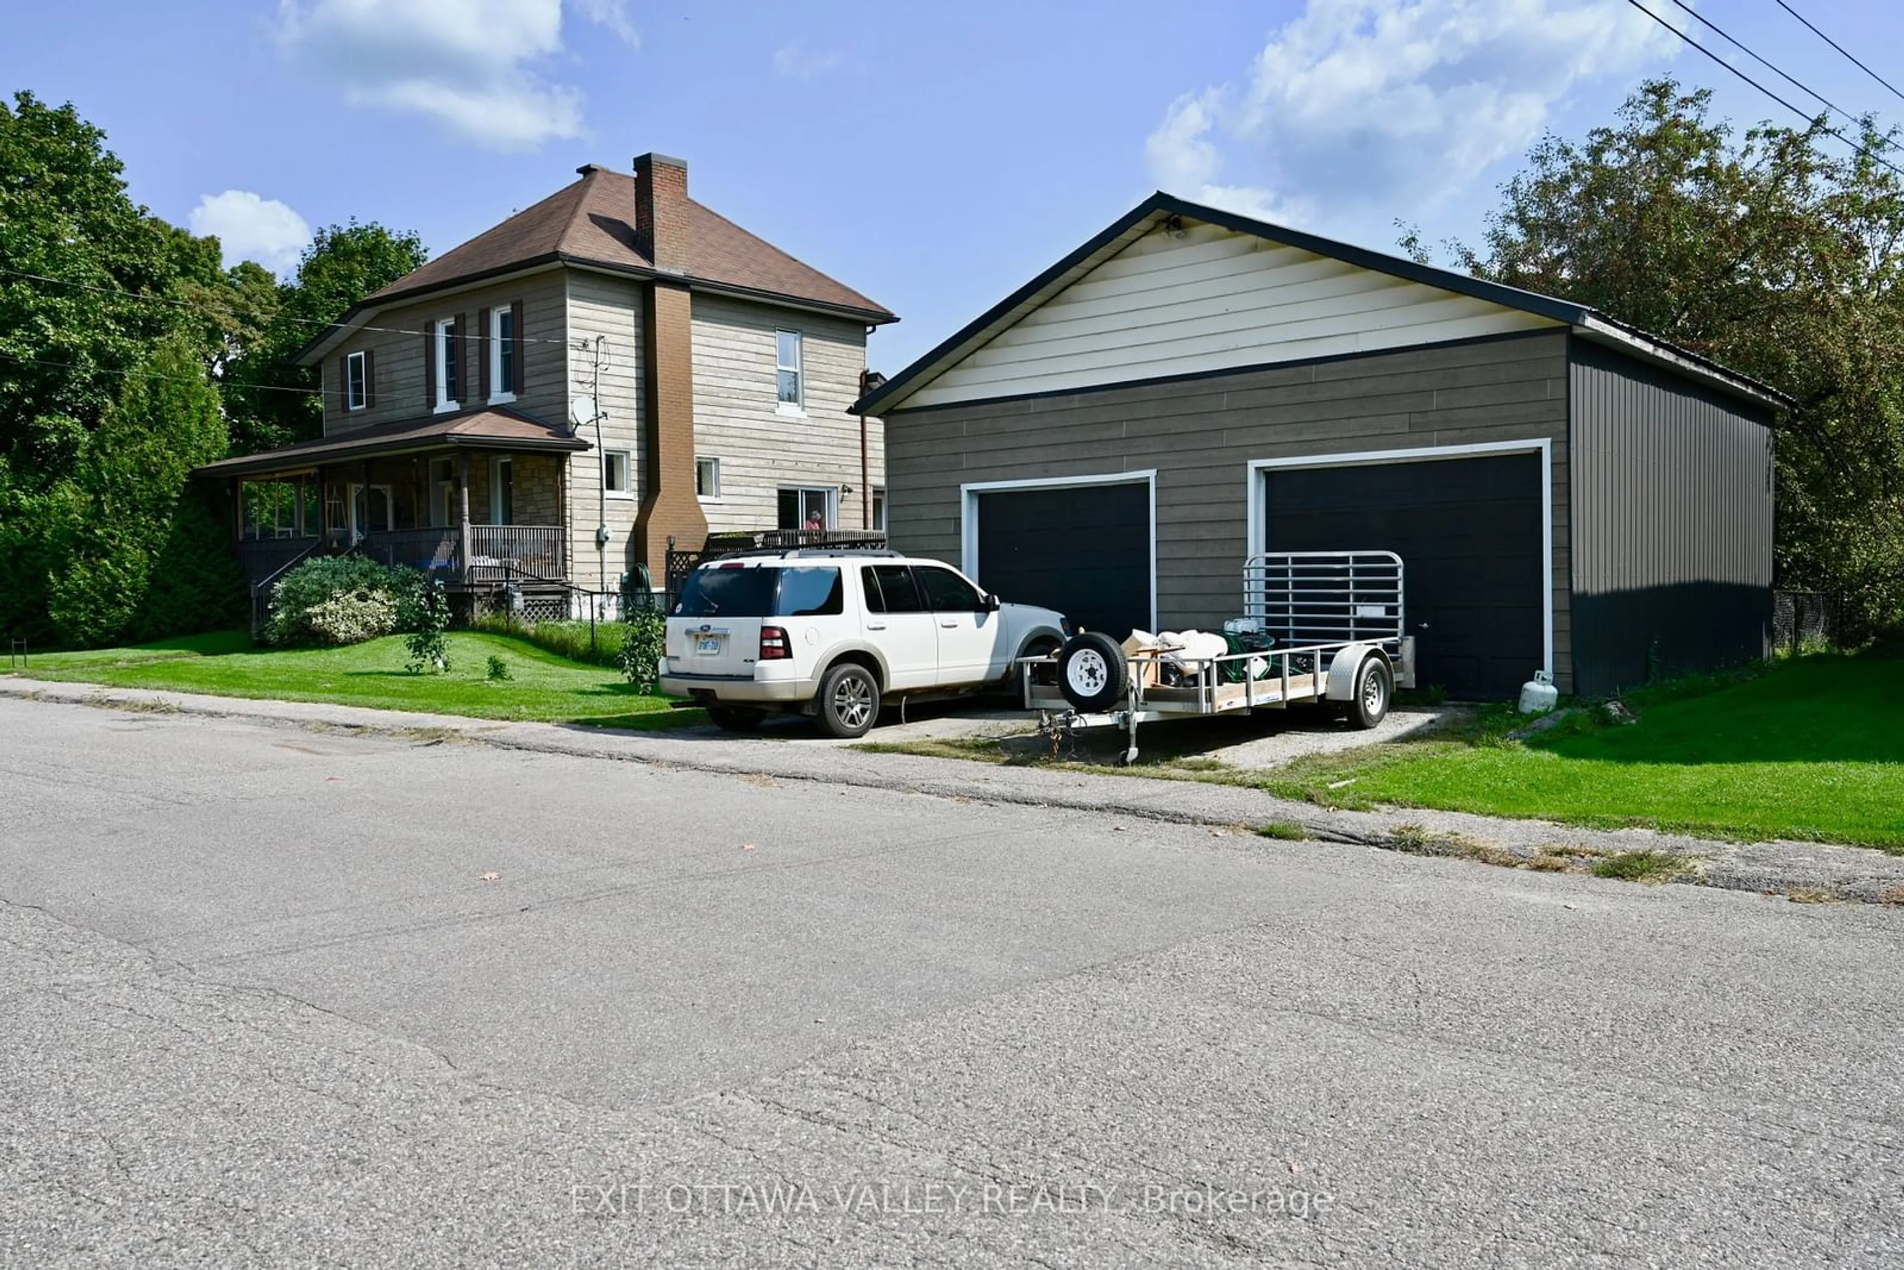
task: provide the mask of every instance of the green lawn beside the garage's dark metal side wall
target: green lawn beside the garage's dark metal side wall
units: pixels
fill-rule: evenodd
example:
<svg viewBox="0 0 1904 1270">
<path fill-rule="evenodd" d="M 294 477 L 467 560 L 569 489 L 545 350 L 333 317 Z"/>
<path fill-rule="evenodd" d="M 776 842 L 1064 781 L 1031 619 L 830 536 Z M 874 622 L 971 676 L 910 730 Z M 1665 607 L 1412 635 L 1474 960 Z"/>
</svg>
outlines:
<svg viewBox="0 0 1904 1270">
<path fill-rule="evenodd" d="M 1577 716 L 1546 735 L 1508 741 L 1525 720 L 1498 706 L 1464 727 L 1262 771 L 1211 754 L 1245 739 L 1253 720 L 1175 724 L 1140 739 L 1142 758 L 1129 771 L 1245 784 L 1325 807 L 1436 807 L 1700 838 L 1843 842 L 1904 855 L 1904 649 L 1681 680 L 1637 689 L 1626 703 L 1639 722 Z M 1201 744 L 1192 743 L 1200 731 Z M 984 739 L 864 748 L 1049 762 L 1024 744 Z"/>
</svg>

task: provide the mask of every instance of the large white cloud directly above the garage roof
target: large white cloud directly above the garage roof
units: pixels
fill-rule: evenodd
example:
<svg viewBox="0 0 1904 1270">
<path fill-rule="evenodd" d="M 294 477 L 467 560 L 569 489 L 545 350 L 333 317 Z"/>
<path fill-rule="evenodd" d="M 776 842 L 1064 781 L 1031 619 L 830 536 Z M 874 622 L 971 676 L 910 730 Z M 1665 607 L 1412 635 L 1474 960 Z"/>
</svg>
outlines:
<svg viewBox="0 0 1904 1270">
<path fill-rule="evenodd" d="M 1626 0 L 1308 0 L 1241 88 L 1171 103 L 1144 156 L 1161 189 L 1200 202 L 1386 223 L 1525 150 L 1577 86 L 1676 46 Z"/>
</svg>

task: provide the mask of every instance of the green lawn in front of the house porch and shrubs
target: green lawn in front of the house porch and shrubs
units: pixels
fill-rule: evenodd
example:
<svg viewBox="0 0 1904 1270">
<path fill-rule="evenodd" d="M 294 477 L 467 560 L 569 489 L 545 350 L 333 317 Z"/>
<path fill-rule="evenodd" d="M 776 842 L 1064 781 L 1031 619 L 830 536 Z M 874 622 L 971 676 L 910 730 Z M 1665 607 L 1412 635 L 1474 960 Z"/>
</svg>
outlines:
<svg viewBox="0 0 1904 1270">
<path fill-rule="evenodd" d="M 615 670 L 567 661 L 512 636 L 453 630 L 447 638 L 446 674 L 406 670 L 404 636 L 350 647 L 255 649 L 242 630 L 137 647 L 40 653 L 25 674 L 112 687 L 596 727 L 670 727 L 703 718 L 701 710 L 672 708 L 666 697 L 636 693 Z M 487 678 L 491 655 L 508 666 L 508 680 Z"/>
</svg>

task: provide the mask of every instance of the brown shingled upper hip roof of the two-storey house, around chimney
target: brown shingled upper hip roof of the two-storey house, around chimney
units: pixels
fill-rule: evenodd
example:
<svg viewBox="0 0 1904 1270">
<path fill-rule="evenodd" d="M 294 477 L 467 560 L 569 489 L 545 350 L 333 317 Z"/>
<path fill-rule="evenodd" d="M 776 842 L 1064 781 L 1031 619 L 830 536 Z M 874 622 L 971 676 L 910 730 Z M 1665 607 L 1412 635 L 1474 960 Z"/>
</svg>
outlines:
<svg viewBox="0 0 1904 1270">
<path fill-rule="evenodd" d="M 687 242 L 678 244 L 687 280 L 792 301 L 845 308 L 870 322 L 893 322 L 885 307 L 834 282 L 727 217 L 687 200 Z M 366 305 L 432 291 L 465 278 L 508 272 L 550 261 L 653 272 L 655 263 L 634 240 L 634 177 L 585 168 L 581 179 L 484 230 L 381 291 Z"/>
</svg>

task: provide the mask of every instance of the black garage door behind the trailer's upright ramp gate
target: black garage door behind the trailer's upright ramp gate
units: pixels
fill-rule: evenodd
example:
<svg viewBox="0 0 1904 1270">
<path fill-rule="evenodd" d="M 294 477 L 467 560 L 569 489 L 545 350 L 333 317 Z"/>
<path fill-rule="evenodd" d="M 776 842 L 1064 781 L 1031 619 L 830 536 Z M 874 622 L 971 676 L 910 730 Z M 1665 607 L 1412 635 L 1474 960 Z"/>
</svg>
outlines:
<svg viewBox="0 0 1904 1270">
<path fill-rule="evenodd" d="M 1514 697 L 1544 665 L 1538 455 L 1270 468 L 1264 480 L 1268 550 L 1401 556 L 1422 685 Z"/>
</svg>

